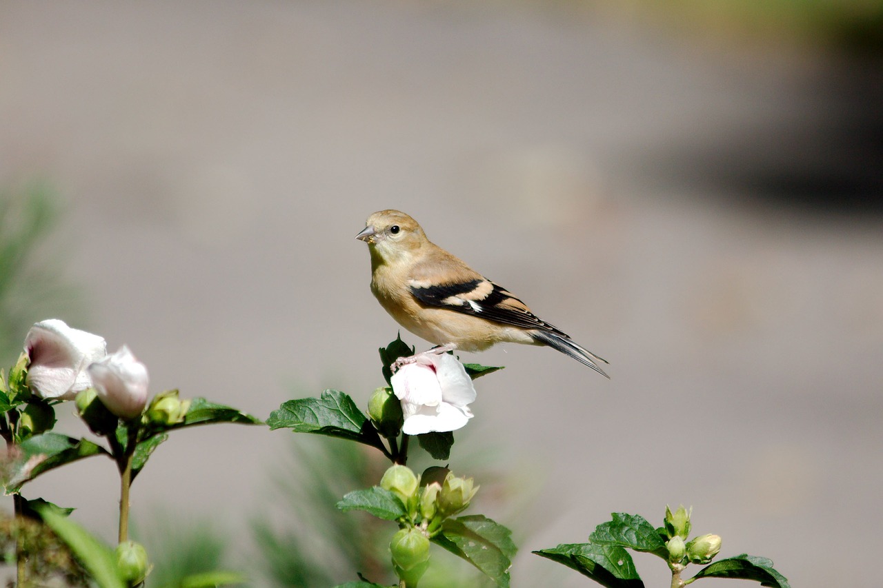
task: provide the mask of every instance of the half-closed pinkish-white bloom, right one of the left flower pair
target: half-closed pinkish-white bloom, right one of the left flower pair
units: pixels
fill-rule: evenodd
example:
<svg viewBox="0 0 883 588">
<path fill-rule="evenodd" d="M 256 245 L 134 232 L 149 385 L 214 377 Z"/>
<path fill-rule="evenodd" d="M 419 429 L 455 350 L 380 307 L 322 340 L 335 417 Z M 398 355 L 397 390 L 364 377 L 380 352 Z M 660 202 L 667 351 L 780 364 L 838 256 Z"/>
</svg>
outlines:
<svg viewBox="0 0 883 588">
<path fill-rule="evenodd" d="M 147 366 L 123 345 L 113 355 L 89 366 L 92 385 L 107 409 L 121 418 L 135 418 L 147 404 Z"/>
</svg>

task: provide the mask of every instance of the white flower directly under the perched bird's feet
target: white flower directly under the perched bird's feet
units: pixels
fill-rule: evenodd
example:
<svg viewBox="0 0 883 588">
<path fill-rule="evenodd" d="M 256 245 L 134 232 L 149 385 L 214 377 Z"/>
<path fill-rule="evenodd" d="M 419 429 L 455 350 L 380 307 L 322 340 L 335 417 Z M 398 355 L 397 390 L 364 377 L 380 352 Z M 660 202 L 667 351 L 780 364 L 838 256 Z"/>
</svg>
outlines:
<svg viewBox="0 0 883 588">
<path fill-rule="evenodd" d="M 423 353 L 392 376 L 392 389 L 402 401 L 402 431 L 419 435 L 455 431 L 464 426 L 475 401 L 475 388 L 466 370 L 449 353 Z"/>
</svg>

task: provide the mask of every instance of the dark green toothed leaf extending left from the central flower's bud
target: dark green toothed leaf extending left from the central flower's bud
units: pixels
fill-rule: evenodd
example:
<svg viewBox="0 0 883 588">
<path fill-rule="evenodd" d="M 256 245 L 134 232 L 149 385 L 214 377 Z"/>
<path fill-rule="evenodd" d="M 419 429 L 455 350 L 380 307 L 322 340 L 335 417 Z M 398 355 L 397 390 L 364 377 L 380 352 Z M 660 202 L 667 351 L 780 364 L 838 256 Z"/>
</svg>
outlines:
<svg viewBox="0 0 883 588">
<path fill-rule="evenodd" d="M 340 437 L 385 449 L 371 421 L 350 396 L 339 390 L 325 390 L 321 398 L 289 400 L 270 414 L 267 425 L 271 430 L 287 428 L 295 433 Z"/>
</svg>

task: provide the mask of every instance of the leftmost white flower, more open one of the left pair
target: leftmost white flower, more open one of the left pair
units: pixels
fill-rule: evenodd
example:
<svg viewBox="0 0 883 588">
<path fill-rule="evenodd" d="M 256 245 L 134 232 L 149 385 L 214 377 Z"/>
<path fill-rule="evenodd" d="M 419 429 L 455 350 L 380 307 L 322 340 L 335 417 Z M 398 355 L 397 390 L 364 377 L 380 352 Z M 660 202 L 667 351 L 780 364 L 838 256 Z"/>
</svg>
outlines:
<svg viewBox="0 0 883 588">
<path fill-rule="evenodd" d="M 92 386 L 87 367 L 107 355 L 98 335 L 70 328 L 64 320 L 38 322 L 27 332 L 25 352 L 30 358 L 27 385 L 42 398 L 70 400 Z"/>
</svg>

